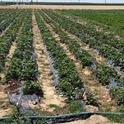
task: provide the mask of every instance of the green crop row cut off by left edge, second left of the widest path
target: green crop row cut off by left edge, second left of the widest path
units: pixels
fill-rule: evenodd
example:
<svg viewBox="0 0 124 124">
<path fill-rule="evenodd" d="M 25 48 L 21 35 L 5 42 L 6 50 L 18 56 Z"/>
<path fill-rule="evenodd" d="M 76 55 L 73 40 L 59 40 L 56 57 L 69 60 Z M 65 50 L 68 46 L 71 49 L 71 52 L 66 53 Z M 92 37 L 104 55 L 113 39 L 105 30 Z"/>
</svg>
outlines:
<svg viewBox="0 0 124 124">
<path fill-rule="evenodd" d="M 11 28 L 7 30 L 5 35 L 0 37 L 0 71 L 2 71 L 4 67 L 10 46 L 12 42 L 16 39 L 16 35 L 21 25 L 23 16 L 23 13 L 20 13 L 20 16 L 16 17 L 16 19 L 12 23 Z"/>
</svg>

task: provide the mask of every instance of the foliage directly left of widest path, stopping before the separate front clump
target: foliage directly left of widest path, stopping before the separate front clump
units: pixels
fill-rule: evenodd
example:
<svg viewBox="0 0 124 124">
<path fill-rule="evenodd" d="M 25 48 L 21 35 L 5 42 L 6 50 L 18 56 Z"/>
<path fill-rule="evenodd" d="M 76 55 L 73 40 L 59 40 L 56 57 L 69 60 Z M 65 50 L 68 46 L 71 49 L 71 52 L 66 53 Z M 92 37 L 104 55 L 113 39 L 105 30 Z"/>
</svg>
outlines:
<svg viewBox="0 0 124 124">
<path fill-rule="evenodd" d="M 6 75 L 7 80 L 36 80 L 38 69 L 33 48 L 30 12 L 25 17 L 22 33 L 16 42 L 17 49 Z"/>
</svg>

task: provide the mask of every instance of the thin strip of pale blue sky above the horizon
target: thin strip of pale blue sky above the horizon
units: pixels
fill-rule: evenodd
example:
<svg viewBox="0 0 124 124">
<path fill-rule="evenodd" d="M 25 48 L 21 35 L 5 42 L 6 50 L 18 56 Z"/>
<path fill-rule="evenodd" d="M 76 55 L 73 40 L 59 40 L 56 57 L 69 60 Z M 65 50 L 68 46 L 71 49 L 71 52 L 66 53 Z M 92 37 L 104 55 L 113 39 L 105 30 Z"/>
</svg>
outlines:
<svg viewBox="0 0 124 124">
<path fill-rule="evenodd" d="M 2 1 L 22 1 L 22 0 L 2 0 Z M 31 0 L 23 0 L 23 1 L 31 1 Z M 90 3 L 105 3 L 105 0 L 33 0 L 39 2 L 90 2 Z M 106 0 L 107 3 L 124 3 L 124 0 Z"/>
</svg>

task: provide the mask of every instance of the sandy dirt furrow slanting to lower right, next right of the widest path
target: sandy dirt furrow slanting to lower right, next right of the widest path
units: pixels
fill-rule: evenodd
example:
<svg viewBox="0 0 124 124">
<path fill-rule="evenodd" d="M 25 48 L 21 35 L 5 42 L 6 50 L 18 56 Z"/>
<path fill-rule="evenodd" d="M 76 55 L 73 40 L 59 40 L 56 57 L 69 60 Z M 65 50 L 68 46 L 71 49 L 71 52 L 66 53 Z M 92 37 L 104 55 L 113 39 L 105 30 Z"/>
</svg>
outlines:
<svg viewBox="0 0 124 124">
<path fill-rule="evenodd" d="M 103 111 L 115 111 L 116 103 L 111 99 L 109 90 L 102 86 L 101 83 L 95 79 L 93 72 L 90 71 L 87 67 L 82 69 L 81 62 L 76 59 L 76 56 L 69 50 L 66 44 L 61 43 L 59 35 L 53 31 L 50 25 L 48 25 L 46 22 L 45 24 L 58 44 L 64 49 L 67 56 L 74 61 L 80 78 L 86 83 L 86 86 L 88 86 L 90 90 L 96 94 L 96 99 L 100 103 L 100 108 Z"/>
</svg>

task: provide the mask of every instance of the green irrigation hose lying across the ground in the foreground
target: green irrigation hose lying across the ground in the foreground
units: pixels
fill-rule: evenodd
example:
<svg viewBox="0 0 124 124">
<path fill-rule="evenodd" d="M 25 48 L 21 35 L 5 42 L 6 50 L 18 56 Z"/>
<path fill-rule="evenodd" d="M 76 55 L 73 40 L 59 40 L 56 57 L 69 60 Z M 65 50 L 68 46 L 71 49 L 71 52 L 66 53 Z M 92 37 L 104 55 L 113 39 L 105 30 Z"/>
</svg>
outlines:
<svg viewBox="0 0 124 124">
<path fill-rule="evenodd" d="M 58 116 L 22 116 L 19 117 L 20 120 L 47 120 L 47 121 L 59 121 L 59 120 L 68 120 L 68 119 L 74 119 L 74 118 L 88 118 L 91 115 L 117 115 L 117 116 L 124 116 L 124 112 L 81 112 L 81 113 L 71 113 L 71 114 L 64 114 L 64 115 L 58 115 Z M 15 118 L 14 116 L 4 116 L 0 117 L 0 121 L 12 121 Z"/>
</svg>

